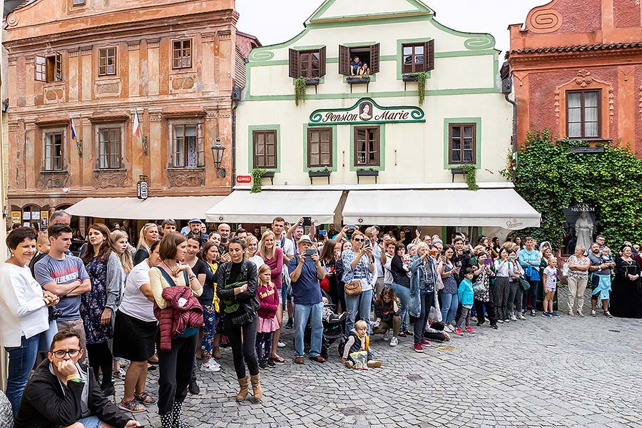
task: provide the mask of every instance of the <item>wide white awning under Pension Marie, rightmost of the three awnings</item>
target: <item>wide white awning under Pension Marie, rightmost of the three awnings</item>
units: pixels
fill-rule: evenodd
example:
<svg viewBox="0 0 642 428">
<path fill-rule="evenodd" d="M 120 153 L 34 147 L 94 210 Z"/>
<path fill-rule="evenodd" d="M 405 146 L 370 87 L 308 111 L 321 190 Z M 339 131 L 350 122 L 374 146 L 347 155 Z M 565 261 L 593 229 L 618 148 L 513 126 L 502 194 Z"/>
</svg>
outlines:
<svg viewBox="0 0 642 428">
<path fill-rule="evenodd" d="M 343 223 L 539 228 L 541 215 L 515 190 L 350 190 Z"/>
</svg>

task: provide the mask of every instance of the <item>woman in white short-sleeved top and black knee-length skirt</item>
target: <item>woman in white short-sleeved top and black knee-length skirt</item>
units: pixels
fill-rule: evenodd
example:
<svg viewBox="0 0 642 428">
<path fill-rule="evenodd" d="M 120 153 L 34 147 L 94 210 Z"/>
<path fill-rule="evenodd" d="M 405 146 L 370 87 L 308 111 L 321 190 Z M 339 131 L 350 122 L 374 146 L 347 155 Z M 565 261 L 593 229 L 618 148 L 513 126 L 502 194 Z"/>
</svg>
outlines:
<svg viewBox="0 0 642 428">
<path fill-rule="evenodd" d="M 158 322 L 154 316 L 149 270 L 161 264 L 158 246 L 159 241 L 153 243 L 149 257 L 127 275 L 123 301 L 113 326 L 113 355 L 130 360 L 125 374 L 125 393 L 118 405 L 127 412 L 144 412 L 145 406 L 156 404 L 156 399 L 145 392 L 145 383 L 147 360 L 156 353 L 154 340 Z"/>
</svg>

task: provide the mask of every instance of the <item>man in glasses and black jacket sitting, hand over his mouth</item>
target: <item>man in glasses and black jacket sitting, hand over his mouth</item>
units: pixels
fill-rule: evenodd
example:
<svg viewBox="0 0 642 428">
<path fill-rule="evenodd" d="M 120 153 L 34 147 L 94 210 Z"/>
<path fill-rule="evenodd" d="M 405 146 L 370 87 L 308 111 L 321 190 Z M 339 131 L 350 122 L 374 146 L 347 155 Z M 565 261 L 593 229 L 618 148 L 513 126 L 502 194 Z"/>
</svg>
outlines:
<svg viewBox="0 0 642 428">
<path fill-rule="evenodd" d="M 80 337 L 71 330 L 54 336 L 47 360 L 27 384 L 14 428 L 131 428 L 141 424 L 109 401 L 86 365 Z"/>
</svg>

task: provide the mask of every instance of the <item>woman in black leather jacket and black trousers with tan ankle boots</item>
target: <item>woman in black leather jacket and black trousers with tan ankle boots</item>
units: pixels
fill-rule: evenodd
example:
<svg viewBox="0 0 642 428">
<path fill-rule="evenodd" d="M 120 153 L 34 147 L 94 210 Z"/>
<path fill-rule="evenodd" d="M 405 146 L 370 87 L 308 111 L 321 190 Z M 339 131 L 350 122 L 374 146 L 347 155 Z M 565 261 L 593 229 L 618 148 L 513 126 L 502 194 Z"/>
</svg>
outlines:
<svg viewBox="0 0 642 428">
<path fill-rule="evenodd" d="M 223 304 L 223 322 L 232 346 L 234 370 L 238 379 L 239 391 L 236 400 L 241 402 L 248 396 L 245 364 L 250 371 L 254 399 L 260 400 L 263 392 L 255 347 L 258 322 L 256 311 L 259 307 L 256 295 L 258 270 L 254 263 L 243 257 L 245 241 L 232 238 L 228 250 L 232 260 L 218 267 L 215 282 L 216 294 Z"/>
</svg>

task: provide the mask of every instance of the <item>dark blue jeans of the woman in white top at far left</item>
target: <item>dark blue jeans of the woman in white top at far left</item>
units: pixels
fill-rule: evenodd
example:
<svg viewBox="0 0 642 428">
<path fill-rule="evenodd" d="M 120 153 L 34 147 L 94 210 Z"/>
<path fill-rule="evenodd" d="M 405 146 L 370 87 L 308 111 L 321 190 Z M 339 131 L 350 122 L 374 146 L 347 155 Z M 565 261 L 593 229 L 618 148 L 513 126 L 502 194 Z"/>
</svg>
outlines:
<svg viewBox="0 0 642 428">
<path fill-rule="evenodd" d="M 36 364 L 39 341 L 39 334 L 29 337 L 29 339 L 23 336 L 20 346 L 5 348 L 6 352 L 9 353 L 9 377 L 6 379 L 6 397 L 11 403 L 14 415 L 18 413 L 24 387 L 29 381 L 31 369 Z"/>
</svg>

